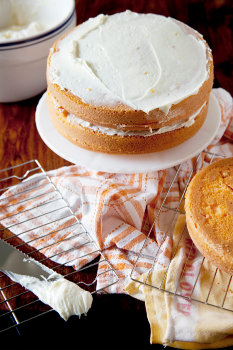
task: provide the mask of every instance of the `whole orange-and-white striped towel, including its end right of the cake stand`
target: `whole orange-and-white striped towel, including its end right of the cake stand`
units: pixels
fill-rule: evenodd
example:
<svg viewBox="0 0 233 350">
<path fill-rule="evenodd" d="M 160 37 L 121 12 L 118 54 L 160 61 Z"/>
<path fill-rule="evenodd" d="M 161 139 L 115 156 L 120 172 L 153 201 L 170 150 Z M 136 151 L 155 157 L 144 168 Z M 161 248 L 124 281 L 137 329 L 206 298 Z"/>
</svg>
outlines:
<svg viewBox="0 0 233 350">
<path fill-rule="evenodd" d="M 221 88 L 213 89 L 213 92 L 216 94 L 221 105 L 222 124 L 213 141 L 213 145 L 209 146 L 208 149 L 210 151 L 218 150 L 218 152 L 222 152 L 220 154 L 232 156 L 233 147 L 232 143 L 230 143 L 233 139 L 233 118 L 231 118 L 232 97 L 227 91 Z M 227 139 L 220 141 L 223 134 Z M 182 165 L 179 177 L 173 183 L 170 195 L 165 202 L 165 205 L 170 208 L 177 207 L 179 203 L 179 189 L 182 190 L 184 188 L 194 161 L 195 159 L 191 159 Z M 205 165 L 207 161 L 208 159 L 204 153 L 202 159 L 199 161 L 198 168 Z M 137 254 L 142 249 L 150 226 L 154 221 L 175 173 L 175 167 L 143 174 L 115 174 L 95 171 L 78 165 L 62 167 L 48 172 L 52 182 L 82 222 L 85 229 L 97 242 L 98 247 L 120 277 L 120 281 L 106 288 L 105 292 L 125 292 L 123 288 L 130 281 L 130 273 L 136 261 Z M 43 187 L 39 187 L 36 190 L 33 189 L 33 187 L 43 184 Z M 45 194 L 42 200 L 41 197 L 31 199 L 29 202 L 29 208 L 31 207 L 31 210 L 25 213 L 23 213 L 23 210 L 25 210 L 23 203 L 20 205 L 14 204 L 16 198 L 17 201 L 19 197 L 20 200 L 32 198 L 35 191 L 37 195 L 40 192 L 42 193 L 42 191 L 44 193 L 45 190 L 49 192 L 49 184 L 45 184 L 45 180 L 40 179 L 36 175 L 31 177 L 31 180 L 27 182 L 27 186 L 28 189 L 31 188 L 30 191 L 20 194 L 23 187 L 15 186 L 0 197 L 0 208 L 8 206 L 0 210 L 0 219 L 4 218 L 1 224 L 5 227 L 14 224 L 14 226 L 10 227 L 10 230 L 14 234 L 26 231 L 20 234 L 20 238 L 36 249 L 42 248 L 41 252 L 55 262 L 67 263 L 67 261 L 72 259 L 72 262 L 69 264 L 75 269 L 79 269 L 91 261 L 97 255 L 97 253 L 94 256 L 93 254 L 89 254 L 94 251 L 93 246 L 85 245 L 64 252 L 64 250 L 84 243 L 87 239 L 84 233 L 77 236 L 78 233 L 81 233 L 80 226 L 65 228 L 68 223 L 72 224 L 75 222 L 74 219 L 72 219 L 73 221 L 70 220 L 66 210 L 60 209 L 62 210 L 63 218 L 55 222 L 52 226 L 46 225 L 46 220 L 56 220 L 56 214 L 54 212 L 47 214 L 46 218 L 39 216 L 45 210 L 48 212 L 48 208 L 50 207 L 51 211 L 61 207 L 59 200 L 46 204 L 48 207 L 46 205 L 39 208 L 35 207 L 41 201 L 45 203 L 47 199 L 52 198 L 52 193 Z M 8 195 L 12 196 L 5 198 Z M 9 207 L 11 204 L 14 205 Z M 13 213 L 18 213 L 18 215 L 10 217 Z M 153 227 L 152 236 L 148 239 L 147 245 L 143 249 L 143 254 L 137 263 L 134 277 L 141 275 L 148 268 L 152 267 L 153 258 L 165 234 L 166 222 L 171 220 L 172 215 L 171 210 L 166 208 L 163 208 L 160 212 L 158 220 Z M 28 219 L 30 220 L 27 221 Z M 16 223 L 22 221 L 23 224 L 20 226 L 16 225 Z M 36 228 L 40 225 L 44 226 L 42 228 Z M 173 229 L 174 227 L 171 226 L 167 238 L 160 248 L 158 259 L 153 267 L 154 270 L 168 266 L 171 260 Z M 55 233 L 49 234 L 51 232 Z M 61 242 L 62 239 L 69 237 L 73 238 Z M 156 241 L 154 238 L 156 238 Z M 104 262 L 100 263 L 98 272 L 103 272 L 107 268 Z M 111 275 L 100 275 L 100 278 L 97 280 L 97 289 L 106 285 L 106 278 L 109 278 L 111 282 Z"/>
</svg>

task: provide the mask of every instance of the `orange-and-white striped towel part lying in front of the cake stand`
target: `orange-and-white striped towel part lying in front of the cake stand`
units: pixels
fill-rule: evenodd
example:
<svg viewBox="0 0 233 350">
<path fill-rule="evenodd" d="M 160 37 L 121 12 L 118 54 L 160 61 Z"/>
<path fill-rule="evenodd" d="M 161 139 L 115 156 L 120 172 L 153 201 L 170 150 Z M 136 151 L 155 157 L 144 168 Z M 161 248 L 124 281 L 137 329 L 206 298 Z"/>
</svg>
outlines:
<svg viewBox="0 0 233 350">
<path fill-rule="evenodd" d="M 175 169 L 170 175 L 171 178 L 174 173 Z M 130 279 L 130 271 L 145 241 L 150 223 L 154 220 L 156 208 L 164 195 L 163 187 L 167 186 L 166 171 L 133 175 L 110 174 L 73 165 L 49 171 L 48 175 L 85 229 L 97 242 L 98 247 L 114 265 L 119 276 L 123 277 L 109 292 L 122 292 L 125 282 Z M 168 179 L 168 176 L 166 178 Z M 31 190 L 25 192 L 25 189 Z M 70 250 L 85 243 L 87 237 L 85 233 L 81 233 L 80 225 L 66 228 L 76 221 L 67 216 L 70 214 L 69 211 L 63 208 L 61 200 L 55 200 L 56 196 L 50 191 L 51 186 L 44 178 L 40 179 L 40 176 L 33 175 L 25 185 L 22 182 L 3 193 L 0 197 L 0 208 L 5 208 L 0 210 L 1 224 L 10 227 L 10 231 L 19 234 L 23 241 L 35 249 L 42 248 L 40 251 L 53 261 L 66 263 L 72 260 L 69 264 L 79 269 L 97 255 L 97 253 L 89 254 L 95 247 L 85 245 Z M 47 193 L 41 197 L 40 194 L 45 192 Z M 178 185 L 174 194 L 176 196 L 174 198 L 178 201 Z M 25 199 L 28 200 L 24 203 Z M 48 199 L 53 201 L 46 204 Z M 21 203 L 15 204 L 16 201 Z M 37 207 L 41 203 L 44 205 Z M 174 201 L 174 205 L 175 203 Z M 28 208 L 31 210 L 25 211 Z M 58 210 L 54 212 L 55 209 Z M 49 214 L 49 211 L 52 212 Z M 43 215 L 44 213 L 48 214 Z M 16 215 L 12 216 L 13 214 Z M 46 224 L 48 221 L 55 222 Z M 37 228 L 38 226 L 40 227 Z M 163 224 L 158 227 L 156 233 L 158 241 L 162 239 L 162 231 Z M 51 232 L 54 233 L 49 234 Z M 81 234 L 77 236 L 78 233 Z M 68 239 L 72 236 L 74 236 L 72 239 Z M 66 240 L 61 242 L 63 239 Z M 167 265 L 171 247 L 172 240 L 168 237 L 162 246 L 158 266 Z M 137 275 L 151 266 L 152 256 L 156 250 L 158 244 L 154 239 L 149 239 Z M 82 257 L 83 255 L 85 256 Z M 100 265 L 100 272 L 105 267 L 104 264 Z M 106 285 L 106 280 L 98 279 L 98 283 Z M 97 285 L 97 289 L 100 285 Z"/>
</svg>

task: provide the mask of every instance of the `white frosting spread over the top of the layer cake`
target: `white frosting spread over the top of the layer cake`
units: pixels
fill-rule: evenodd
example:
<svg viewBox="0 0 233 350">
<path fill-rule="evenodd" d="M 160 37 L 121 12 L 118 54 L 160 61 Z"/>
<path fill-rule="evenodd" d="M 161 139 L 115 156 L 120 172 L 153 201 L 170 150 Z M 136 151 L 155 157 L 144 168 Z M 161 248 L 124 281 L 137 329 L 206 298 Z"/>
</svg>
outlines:
<svg viewBox="0 0 233 350">
<path fill-rule="evenodd" d="M 198 93 L 208 78 L 205 42 L 179 21 L 129 10 L 89 18 L 58 43 L 49 77 L 95 106 L 160 108 Z"/>
</svg>

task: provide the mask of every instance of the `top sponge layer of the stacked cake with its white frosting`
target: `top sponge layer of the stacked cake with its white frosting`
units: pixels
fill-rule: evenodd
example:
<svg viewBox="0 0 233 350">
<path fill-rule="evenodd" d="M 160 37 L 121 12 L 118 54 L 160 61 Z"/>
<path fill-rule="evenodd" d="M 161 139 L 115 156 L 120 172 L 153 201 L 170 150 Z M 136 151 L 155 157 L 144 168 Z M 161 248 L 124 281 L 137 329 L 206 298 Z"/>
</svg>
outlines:
<svg viewBox="0 0 233 350">
<path fill-rule="evenodd" d="M 203 37 L 172 18 L 131 11 L 98 15 L 60 38 L 47 64 L 49 90 L 95 125 L 172 125 L 209 99 L 213 59 Z"/>
</svg>

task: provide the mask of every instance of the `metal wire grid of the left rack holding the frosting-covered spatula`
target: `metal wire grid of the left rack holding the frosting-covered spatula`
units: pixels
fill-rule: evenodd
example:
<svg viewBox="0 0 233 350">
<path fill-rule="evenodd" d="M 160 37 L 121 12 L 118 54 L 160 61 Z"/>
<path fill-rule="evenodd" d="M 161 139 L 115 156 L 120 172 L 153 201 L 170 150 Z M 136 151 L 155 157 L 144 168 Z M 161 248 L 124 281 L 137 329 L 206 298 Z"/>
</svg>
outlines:
<svg viewBox="0 0 233 350">
<path fill-rule="evenodd" d="M 61 195 L 61 193 L 59 192 L 59 190 L 56 188 L 55 184 L 51 181 L 51 179 L 49 178 L 49 176 L 47 175 L 47 173 L 44 171 L 44 169 L 42 168 L 42 166 L 39 164 L 39 162 L 34 159 L 34 160 L 30 160 L 27 162 L 24 162 L 22 164 L 19 165 L 15 165 L 15 166 L 11 166 L 8 167 L 6 169 L 0 170 L 0 175 L 3 176 L 3 178 L 0 178 L 0 194 L 2 194 L 3 192 L 5 192 L 8 189 L 12 189 L 14 185 L 19 185 L 23 184 L 25 186 L 27 181 L 30 181 L 30 179 L 28 179 L 28 175 L 32 175 L 35 174 L 36 176 L 40 176 L 39 179 L 44 179 L 45 182 L 42 185 L 39 185 L 39 189 L 41 192 L 41 187 L 43 188 L 43 186 L 45 184 L 49 185 L 49 192 L 47 191 L 47 187 L 46 187 L 46 192 L 40 193 L 39 195 L 34 195 L 33 197 L 30 197 L 29 199 L 24 199 L 21 201 L 16 201 L 14 202 L 12 205 L 15 204 L 22 204 L 25 206 L 26 201 L 27 200 L 31 200 L 31 199 L 38 199 L 38 198 L 42 198 L 43 195 L 48 194 L 48 193 L 52 193 L 52 197 L 53 199 L 49 198 L 48 200 L 45 201 L 45 203 L 41 203 L 37 206 L 33 206 L 33 209 L 36 207 L 38 208 L 39 206 L 44 206 L 46 204 L 49 204 L 51 202 L 55 202 L 55 201 L 61 201 L 63 203 L 63 206 L 59 206 L 58 209 L 54 209 L 54 210 L 49 210 L 49 212 L 45 212 L 42 215 L 39 215 L 40 218 L 43 215 L 50 214 L 51 212 L 54 213 L 57 210 L 61 211 L 61 217 L 56 217 L 56 220 L 54 221 L 48 221 L 46 223 L 46 225 L 48 224 L 54 224 L 54 222 L 58 221 L 59 218 L 69 218 L 73 219 L 74 223 L 72 223 L 71 225 L 67 225 L 65 226 L 65 229 L 73 227 L 73 226 L 79 226 L 81 229 L 81 233 L 72 235 L 71 237 L 65 238 L 63 240 L 61 240 L 60 242 L 67 240 L 67 239 L 72 239 L 75 236 L 78 236 L 79 234 L 85 234 L 87 237 L 87 241 L 83 244 L 77 245 L 75 247 L 72 247 L 70 249 L 64 250 L 63 252 L 67 252 L 73 249 L 78 249 L 79 247 L 83 246 L 83 245 L 88 245 L 88 244 L 92 244 L 93 246 L 93 251 L 92 252 L 88 252 L 88 254 L 83 254 L 81 256 L 79 256 L 79 258 L 84 258 L 87 255 L 91 255 L 91 254 L 95 254 L 93 255 L 93 257 L 95 257 L 96 255 L 99 255 L 99 257 L 95 257 L 89 264 L 83 266 L 82 268 L 80 268 L 79 270 L 74 270 L 72 267 L 66 267 L 65 264 L 67 265 L 67 263 L 73 261 L 73 260 L 69 260 L 66 263 L 62 263 L 62 264 L 58 264 L 58 263 L 53 263 L 53 267 L 51 267 L 51 265 L 49 266 L 51 269 L 56 269 L 57 272 L 59 272 L 60 274 L 64 275 L 64 277 L 69 277 L 70 280 L 72 280 L 73 282 L 75 282 L 76 284 L 82 284 L 82 288 L 85 288 L 87 290 L 89 290 L 91 293 L 95 293 L 98 292 L 102 289 L 105 289 L 107 287 L 109 287 L 112 284 L 115 284 L 118 282 L 119 277 L 116 273 L 116 271 L 113 269 L 113 267 L 110 265 L 109 261 L 103 256 L 102 252 L 100 251 L 100 249 L 98 248 L 98 246 L 96 245 L 95 241 L 93 240 L 93 238 L 90 236 L 90 234 L 85 230 L 84 226 L 82 225 L 82 223 L 78 220 L 78 218 L 76 217 L 76 215 L 74 214 L 74 212 L 71 210 L 71 208 L 69 207 L 68 203 L 66 202 L 66 200 L 64 199 L 64 197 Z M 21 182 L 21 180 L 23 180 Z M 10 184 L 10 185 L 9 185 Z M 34 186 L 33 189 L 37 189 L 38 187 Z M 25 190 L 21 190 L 19 192 L 19 194 L 21 193 L 25 193 L 27 191 L 30 191 L 31 188 L 29 189 L 25 189 Z M 7 199 L 9 197 L 12 197 L 12 195 L 7 196 Z M 0 204 L 2 202 L 2 200 L 5 198 L 0 198 Z M 54 203 L 53 203 L 54 204 Z M 4 209 L 6 206 L 2 206 L 0 207 L 0 210 Z M 10 205 L 8 206 L 8 208 L 10 207 Z M 26 210 L 23 210 L 21 212 L 17 211 L 17 215 L 20 213 L 25 213 L 27 211 L 29 211 L 31 208 L 28 208 Z M 64 216 L 64 210 L 68 210 L 68 215 Z M 46 210 L 45 210 L 46 211 Z M 62 214 L 63 213 L 63 214 Z M 14 216 L 16 214 L 12 214 L 12 216 Z M 39 217 L 37 216 L 37 217 Z M 33 217 L 35 218 L 35 217 Z M 1 219 L 2 220 L 2 219 Z M 16 247 L 17 249 L 20 249 L 23 251 L 24 247 L 28 247 L 27 242 L 20 242 L 20 244 L 18 244 L 18 242 L 12 243 L 12 239 L 18 239 L 20 238 L 20 235 L 24 232 L 21 232 L 19 234 L 13 234 L 10 232 L 10 235 L 8 234 L 6 237 L 3 235 L 5 231 L 9 232 L 8 229 L 10 229 L 10 227 L 14 226 L 14 225 L 10 225 L 7 228 L 5 228 L 2 224 L 1 224 L 1 220 L 0 220 L 0 238 L 2 240 L 4 240 L 5 242 L 9 242 L 10 240 L 10 244 L 13 245 L 14 247 Z M 28 219 L 30 220 L 30 218 Z M 26 221 L 28 221 L 26 220 Z M 26 222 L 23 221 L 23 222 Z M 75 222 L 76 221 L 76 222 Z M 23 223 L 23 222 L 20 222 Z M 39 225 L 37 227 L 34 227 L 33 229 L 36 228 L 41 228 L 42 226 L 45 226 L 45 224 Z M 1 228 L 2 227 L 2 228 Z M 63 229 L 63 228 L 62 228 Z M 60 229 L 61 230 L 61 229 Z M 52 231 L 46 235 L 50 235 L 53 233 L 56 233 L 59 230 L 55 230 Z M 44 236 L 44 235 L 43 235 Z M 34 239 L 32 239 L 34 240 Z M 32 241 L 31 240 L 31 241 Z M 55 243 L 49 244 L 48 247 L 50 247 L 51 245 L 53 245 Z M 43 247 L 44 248 L 44 247 Z M 51 262 L 51 260 L 49 260 L 48 257 L 44 258 L 44 255 L 42 255 L 40 253 L 40 250 L 43 248 L 39 248 L 39 249 L 33 249 L 31 248 L 31 251 L 23 251 L 28 257 L 33 257 L 35 259 L 37 259 L 39 262 L 41 263 L 47 263 L 48 261 Z M 34 256 L 33 254 L 36 253 L 37 255 Z M 42 255 L 42 259 L 38 258 L 38 254 Z M 61 253 L 59 253 L 60 255 Z M 57 255 L 57 254 L 55 254 Z M 53 255 L 53 256 L 55 256 Z M 52 257 L 52 256 L 50 256 Z M 99 258 L 99 260 L 98 260 Z M 104 270 L 103 272 L 100 272 L 97 274 L 97 267 L 100 263 L 106 263 L 108 266 L 107 270 Z M 66 273 L 68 270 L 68 273 Z M 72 270 L 72 271 L 71 271 Z M 96 276 L 94 277 L 94 280 L 92 280 L 90 283 L 85 282 L 86 276 L 91 272 L 91 275 L 93 276 L 94 273 L 96 274 Z M 50 307 L 47 307 L 44 304 L 42 304 L 42 302 L 34 295 L 32 294 L 29 290 L 25 290 L 25 288 L 21 287 L 18 283 L 12 282 L 4 273 L 0 272 L 0 324 L 3 324 L 3 329 L 0 329 L 0 332 L 13 328 L 25 321 L 28 321 L 32 318 L 38 317 L 40 314 L 44 314 L 47 312 L 52 311 L 52 309 Z M 101 277 L 104 277 L 104 274 L 108 275 L 108 278 L 104 278 L 104 280 L 106 280 L 106 285 L 104 285 L 103 287 L 96 289 L 96 281 L 97 278 L 100 277 L 100 275 L 102 275 Z M 109 274 L 111 275 L 111 278 L 109 278 Z M 108 281 L 108 283 L 107 283 Z M 111 283 L 109 283 L 109 281 L 111 281 Z M 101 284 L 103 285 L 103 284 Z M 13 295 L 12 295 L 12 288 L 13 288 Z M 10 290 L 10 292 L 8 293 L 7 291 Z M 27 293 L 30 293 L 30 297 L 25 297 Z M 7 294 L 9 294 L 10 296 L 7 296 Z M 29 294 L 28 294 L 29 295 Z M 20 301 L 17 301 L 20 300 Z M 29 301 L 28 301 L 29 300 Z M 36 305 L 41 304 L 42 306 L 38 306 L 36 308 Z M 45 306 L 45 307 L 44 307 Z M 33 307 L 39 311 L 41 311 L 42 308 L 42 312 L 40 312 L 39 315 L 33 316 L 33 317 L 28 317 L 26 319 L 19 319 L 17 312 L 21 312 L 22 310 L 27 310 L 28 308 Z M 44 309 L 45 308 L 45 309 Z M 48 309 L 49 308 L 49 309 Z M 16 327 L 16 330 L 18 331 L 18 328 Z"/>
</svg>

